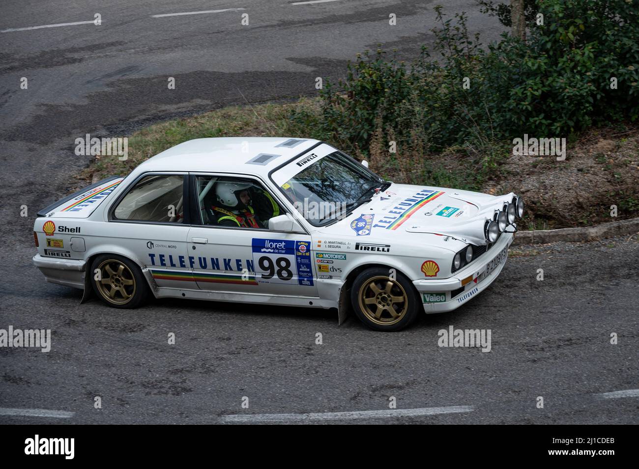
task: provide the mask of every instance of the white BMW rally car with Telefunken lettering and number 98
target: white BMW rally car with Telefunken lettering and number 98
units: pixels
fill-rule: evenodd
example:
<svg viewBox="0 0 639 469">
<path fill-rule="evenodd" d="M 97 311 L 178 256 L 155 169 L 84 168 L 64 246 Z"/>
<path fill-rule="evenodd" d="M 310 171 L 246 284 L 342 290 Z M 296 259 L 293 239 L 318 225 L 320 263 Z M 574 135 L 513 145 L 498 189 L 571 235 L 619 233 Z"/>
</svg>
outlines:
<svg viewBox="0 0 639 469">
<path fill-rule="evenodd" d="M 33 262 L 115 308 L 352 309 L 398 331 L 488 287 L 522 214 L 512 193 L 394 184 L 317 140 L 201 138 L 38 212 Z"/>
</svg>

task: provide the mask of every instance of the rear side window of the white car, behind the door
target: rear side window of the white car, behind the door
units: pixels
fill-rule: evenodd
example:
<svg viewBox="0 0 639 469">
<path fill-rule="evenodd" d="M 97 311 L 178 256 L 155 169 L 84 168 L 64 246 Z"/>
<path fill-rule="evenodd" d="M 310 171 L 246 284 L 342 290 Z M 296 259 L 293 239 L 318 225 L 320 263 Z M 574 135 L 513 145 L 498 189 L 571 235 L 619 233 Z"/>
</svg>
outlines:
<svg viewBox="0 0 639 469">
<path fill-rule="evenodd" d="M 182 223 L 183 184 L 184 177 L 178 174 L 144 176 L 119 202 L 114 217 L 116 220 Z"/>
</svg>

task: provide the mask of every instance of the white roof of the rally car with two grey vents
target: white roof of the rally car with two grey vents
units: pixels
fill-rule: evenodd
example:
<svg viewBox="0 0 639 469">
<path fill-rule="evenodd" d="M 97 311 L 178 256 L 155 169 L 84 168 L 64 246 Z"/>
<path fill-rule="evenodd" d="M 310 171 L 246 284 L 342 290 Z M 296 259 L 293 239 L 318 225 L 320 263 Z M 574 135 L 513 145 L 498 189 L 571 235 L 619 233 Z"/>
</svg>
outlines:
<svg viewBox="0 0 639 469">
<path fill-rule="evenodd" d="M 290 137 L 196 138 L 144 161 L 135 174 L 149 171 L 235 172 L 266 177 L 319 140 Z"/>
</svg>

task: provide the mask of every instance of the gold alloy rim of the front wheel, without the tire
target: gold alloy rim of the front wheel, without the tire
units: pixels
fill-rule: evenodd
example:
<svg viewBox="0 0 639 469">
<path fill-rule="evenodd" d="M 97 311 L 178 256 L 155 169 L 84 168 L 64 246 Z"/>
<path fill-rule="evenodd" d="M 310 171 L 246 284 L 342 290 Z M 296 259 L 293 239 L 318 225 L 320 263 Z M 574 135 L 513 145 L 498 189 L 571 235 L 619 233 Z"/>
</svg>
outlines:
<svg viewBox="0 0 639 469">
<path fill-rule="evenodd" d="M 404 288 L 385 276 L 368 279 L 360 287 L 358 296 L 362 313 L 375 324 L 396 324 L 408 311 L 408 295 Z"/>
</svg>

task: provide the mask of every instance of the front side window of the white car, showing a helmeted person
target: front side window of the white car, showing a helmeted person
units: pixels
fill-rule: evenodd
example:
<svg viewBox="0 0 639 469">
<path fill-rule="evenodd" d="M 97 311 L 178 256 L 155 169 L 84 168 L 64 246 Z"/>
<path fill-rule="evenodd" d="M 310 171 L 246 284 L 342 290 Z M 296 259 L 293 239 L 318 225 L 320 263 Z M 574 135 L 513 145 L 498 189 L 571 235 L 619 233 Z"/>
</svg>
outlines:
<svg viewBox="0 0 639 469">
<path fill-rule="evenodd" d="M 203 225 L 268 229 L 268 220 L 284 213 L 268 190 L 252 179 L 197 176 L 196 193 Z"/>
</svg>

